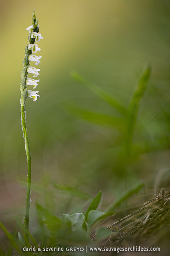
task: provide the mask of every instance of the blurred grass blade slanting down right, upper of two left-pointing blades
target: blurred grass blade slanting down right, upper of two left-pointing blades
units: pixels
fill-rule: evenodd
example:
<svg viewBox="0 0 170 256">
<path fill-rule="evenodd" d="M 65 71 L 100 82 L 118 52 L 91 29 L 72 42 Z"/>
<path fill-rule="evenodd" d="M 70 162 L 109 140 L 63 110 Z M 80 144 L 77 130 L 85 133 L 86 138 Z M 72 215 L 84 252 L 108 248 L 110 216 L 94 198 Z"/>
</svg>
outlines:
<svg viewBox="0 0 170 256">
<path fill-rule="evenodd" d="M 94 92 L 95 95 L 102 98 L 103 100 L 107 101 L 112 107 L 117 109 L 122 115 L 126 115 L 126 108 L 121 106 L 121 104 L 108 92 L 105 92 L 102 90 L 99 86 L 94 85 L 93 83 L 89 82 L 85 78 L 83 78 L 79 73 L 76 71 L 73 71 L 71 73 L 71 77 L 75 79 L 78 83 L 84 85 L 86 88 L 90 89 L 92 92 Z"/>
</svg>

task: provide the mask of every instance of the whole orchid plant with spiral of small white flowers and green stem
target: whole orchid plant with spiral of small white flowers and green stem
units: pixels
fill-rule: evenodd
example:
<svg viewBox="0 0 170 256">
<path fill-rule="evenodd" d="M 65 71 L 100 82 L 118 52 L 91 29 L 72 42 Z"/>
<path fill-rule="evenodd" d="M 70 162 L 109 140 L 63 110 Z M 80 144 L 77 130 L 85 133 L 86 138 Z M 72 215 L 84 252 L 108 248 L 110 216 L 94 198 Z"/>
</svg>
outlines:
<svg viewBox="0 0 170 256">
<path fill-rule="evenodd" d="M 28 78 L 28 73 L 34 74 L 33 77 L 37 77 L 39 75 L 40 68 L 37 69 L 35 67 L 30 66 L 30 61 L 34 61 L 35 65 L 38 65 L 40 62 L 40 57 L 34 55 L 37 51 L 40 51 L 41 49 L 38 48 L 37 44 L 35 42 L 39 42 L 40 39 L 43 39 L 39 32 L 39 25 L 38 20 L 35 16 L 35 9 L 33 11 L 33 17 L 32 17 L 32 25 L 26 30 L 29 30 L 29 36 L 28 36 L 28 44 L 25 48 L 25 57 L 23 61 L 24 68 L 21 72 L 21 84 L 20 84 L 20 91 L 21 91 L 21 124 L 22 124 L 22 133 L 24 137 L 25 142 L 25 152 L 27 157 L 27 164 L 28 164 L 28 176 L 27 176 L 27 192 L 26 192 L 26 209 L 25 209 L 25 217 L 24 217 L 24 226 L 26 229 L 28 229 L 29 226 L 29 208 L 31 203 L 31 153 L 30 153 L 30 147 L 29 147 L 29 141 L 27 137 L 27 129 L 26 129 L 26 113 L 25 113 L 25 101 L 27 97 L 33 98 L 33 101 L 37 100 L 38 91 L 32 91 L 27 90 L 27 87 L 29 85 L 34 86 L 33 89 L 36 88 L 37 82 L 40 80 L 34 80 L 32 78 Z M 25 244 L 29 244 L 29 237 L 25 233 Z"/>
</svg>

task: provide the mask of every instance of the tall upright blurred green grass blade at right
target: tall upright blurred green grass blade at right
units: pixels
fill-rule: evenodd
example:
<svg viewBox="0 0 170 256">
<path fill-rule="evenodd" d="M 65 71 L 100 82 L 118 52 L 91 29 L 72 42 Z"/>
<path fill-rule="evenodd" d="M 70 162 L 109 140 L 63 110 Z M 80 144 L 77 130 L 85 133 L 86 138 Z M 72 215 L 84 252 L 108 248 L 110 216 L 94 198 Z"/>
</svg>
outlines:
<svg viewBox="0 0 170 256">
<path fill-rule="evenodd" d="M 139 80 L 137 90 L 133 95 L 132 101 L 130 102 L 129 108 L 127 110 L 127 124 L 125 127 L 125 142 L 126 142 L 126 153 L 130 155 L 131 153 L 131 144 L 133 139 L 133 132 L 136 125 L 136 116 L 139 108 L 139 101 L 142 98 L 146 84 L 149 80 L 151 73 L 151 67 L 147 66 L 144 69 L 144 72 Z"/>
</svg>

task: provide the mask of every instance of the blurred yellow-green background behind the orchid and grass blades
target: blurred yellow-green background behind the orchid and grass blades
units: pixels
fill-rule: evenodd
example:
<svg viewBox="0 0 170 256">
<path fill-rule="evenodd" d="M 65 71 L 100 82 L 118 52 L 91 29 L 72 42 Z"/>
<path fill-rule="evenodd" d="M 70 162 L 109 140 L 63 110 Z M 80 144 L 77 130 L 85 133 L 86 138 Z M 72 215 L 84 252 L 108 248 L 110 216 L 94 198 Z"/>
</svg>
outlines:
<svg viewBox="0 0 170 256">
<path fill-rule="evenodd" d="M 145 189 L 168 187 L 170 1 L 1 0 L 3 222 L 10 228 L 13 214 L 25 211 L 27 165 L 19 84 L 28 42 L 25 28 L 31 25 L 34 8 L 44 39 L 38 43 L 41 63 L 35 66 L 41 68 L 36 88 L 41 97 L 35 102 L 31 98 L 26 101 L 32 156 L 31 215 L 36 200 L 62 215 L 89 198 L 61 193 L 54 184 L 67 184 L 89 196 L 102 189 L 108 203 L 139 182 L 145 183 Z M 70 72 L 76 70 L 128 107 L 145 63 L 151 64 L 151 78 L 138 112 L 143 128 L 139 127 L 134 138 L 139 144 L 145 142 L 145 146 L 143 153 L 127 166 L 124 176 L 115 170 L 116 152 L 124 143 L 121 131 L 107 122 L 84 120 L 71 106 L 109 116 L 118 113 L 73 80 Z"/>
</svg>

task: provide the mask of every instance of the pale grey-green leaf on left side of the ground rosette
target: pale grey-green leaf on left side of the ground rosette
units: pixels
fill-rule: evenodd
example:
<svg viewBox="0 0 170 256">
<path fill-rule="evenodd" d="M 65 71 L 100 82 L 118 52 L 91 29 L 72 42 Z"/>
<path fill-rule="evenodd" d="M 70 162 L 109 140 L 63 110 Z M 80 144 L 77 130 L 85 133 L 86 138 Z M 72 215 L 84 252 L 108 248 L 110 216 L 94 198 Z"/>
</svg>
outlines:
<svg viewBox="0 0 170 256">
<path fill-rule="evenodd" d="M 82 212 L 80 213 L 73 213 L 72 215 L 64 214 L 65 222 L 71 222 L 72 230 L 82 228 L 85 216 Z"/>
</svg>

